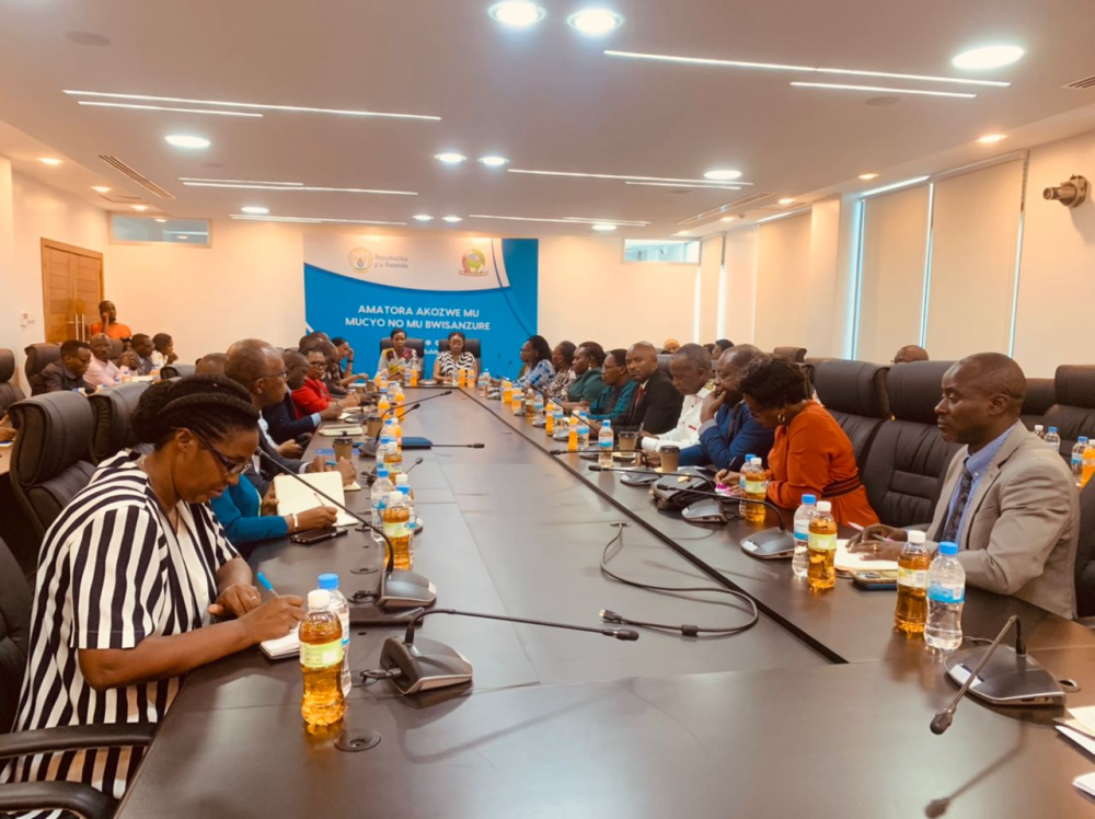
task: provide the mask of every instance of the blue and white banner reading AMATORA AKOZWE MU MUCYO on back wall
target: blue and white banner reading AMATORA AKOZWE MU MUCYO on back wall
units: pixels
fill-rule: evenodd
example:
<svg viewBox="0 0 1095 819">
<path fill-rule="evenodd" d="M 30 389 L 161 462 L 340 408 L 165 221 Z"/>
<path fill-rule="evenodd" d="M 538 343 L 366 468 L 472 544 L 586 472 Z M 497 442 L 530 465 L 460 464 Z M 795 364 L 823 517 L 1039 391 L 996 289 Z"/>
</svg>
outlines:
<svg viewBox="0 0 1095 819">
<path fill-rule="evenodd" d="M 516 370 L 537 332 L 535 239 L 304 235 L 304 315 L 311 330 L 343 336 L 368 370 L 395 327 L 426 342 L 460 330 L 482 344 L 493 373 Z M 427 370 L 428 372 L 428 370 Z"/>
</svg>

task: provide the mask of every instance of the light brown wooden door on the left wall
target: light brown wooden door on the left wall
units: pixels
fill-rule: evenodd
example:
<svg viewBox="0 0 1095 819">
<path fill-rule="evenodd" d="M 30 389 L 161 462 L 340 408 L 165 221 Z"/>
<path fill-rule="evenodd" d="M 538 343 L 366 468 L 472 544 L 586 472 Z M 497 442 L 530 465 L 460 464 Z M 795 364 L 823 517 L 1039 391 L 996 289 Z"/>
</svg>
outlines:
<svg viewBox="0 0 1095 819">
<path fill-rule="evenodd" d="M 103 300 L 103 254 L 42 240 L 45 341 L 88 341 Z"/>
</svg>

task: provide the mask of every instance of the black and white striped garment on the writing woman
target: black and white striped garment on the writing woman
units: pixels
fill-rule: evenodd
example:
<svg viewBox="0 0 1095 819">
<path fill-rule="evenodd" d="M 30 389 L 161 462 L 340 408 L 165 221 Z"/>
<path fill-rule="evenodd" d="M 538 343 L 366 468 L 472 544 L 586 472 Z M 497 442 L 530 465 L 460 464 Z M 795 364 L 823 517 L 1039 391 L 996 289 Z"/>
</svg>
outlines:
<svg viewBox="0 0 1095 819">
<path fill-rule="evenodd" d="M 137 454 L 122 452 L 49 527 L 15 730 L 159 722 L 166 714 L 181 678 L 97 692 L 80 671 L 78 649 L 134 648 L 145 637 L 208 624 L 216 573 L 237 552 L 208 506 L 176 508 L 177 534 Z M 3 780 L 70 780 L 120 797 L 141 755 L 125 748 L 39 754 L 11 763 Z"/>
</svg>

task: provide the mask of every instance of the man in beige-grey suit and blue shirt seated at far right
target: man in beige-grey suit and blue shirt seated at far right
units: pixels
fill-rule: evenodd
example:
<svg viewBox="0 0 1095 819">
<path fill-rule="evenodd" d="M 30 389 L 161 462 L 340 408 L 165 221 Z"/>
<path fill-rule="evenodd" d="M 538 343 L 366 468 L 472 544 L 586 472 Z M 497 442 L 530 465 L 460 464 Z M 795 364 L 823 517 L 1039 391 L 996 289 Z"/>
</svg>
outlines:
<svg viewBox="0 0 1095 819">
<path fill-rule="evenodd" d="M 955 454 L 929 528 L 933 541 L 958 544 L 966 580 L 1014 595 L 1062 618 L 1076 613 L 1080 499 L 1064 460 L 1019 422 L 1026 378 L 1007 356 L 981 353 L 943 377 L 935 407 Z M 852 551 L 897 560 L 904 530 L 868 527 Z"/>
</svg>

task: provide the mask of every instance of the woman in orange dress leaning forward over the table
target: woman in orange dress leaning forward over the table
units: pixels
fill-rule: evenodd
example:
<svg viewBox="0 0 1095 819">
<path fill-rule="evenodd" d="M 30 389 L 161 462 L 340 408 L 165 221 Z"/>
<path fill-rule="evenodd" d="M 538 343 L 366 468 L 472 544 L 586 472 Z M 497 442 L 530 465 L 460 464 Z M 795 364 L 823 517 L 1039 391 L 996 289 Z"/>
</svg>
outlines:
<svg viewBox="0 0 1095 819">
<path fill-rule="evenodd" d="M 843 526 L 869 526 L 878 520 L 860 483 L 852 441 L 831 415 L 808 400 L 806 376 L 782 356 L 760 356 L 741 374 L 738 389 L 749 412 L 764 427 L 775 429 L 768 455 L 768 499 L 784 509 L 797 509 L 803 495 L 832 503 Z M 736 475 L 719 474 L 723 483 Z"/>
</svg>

